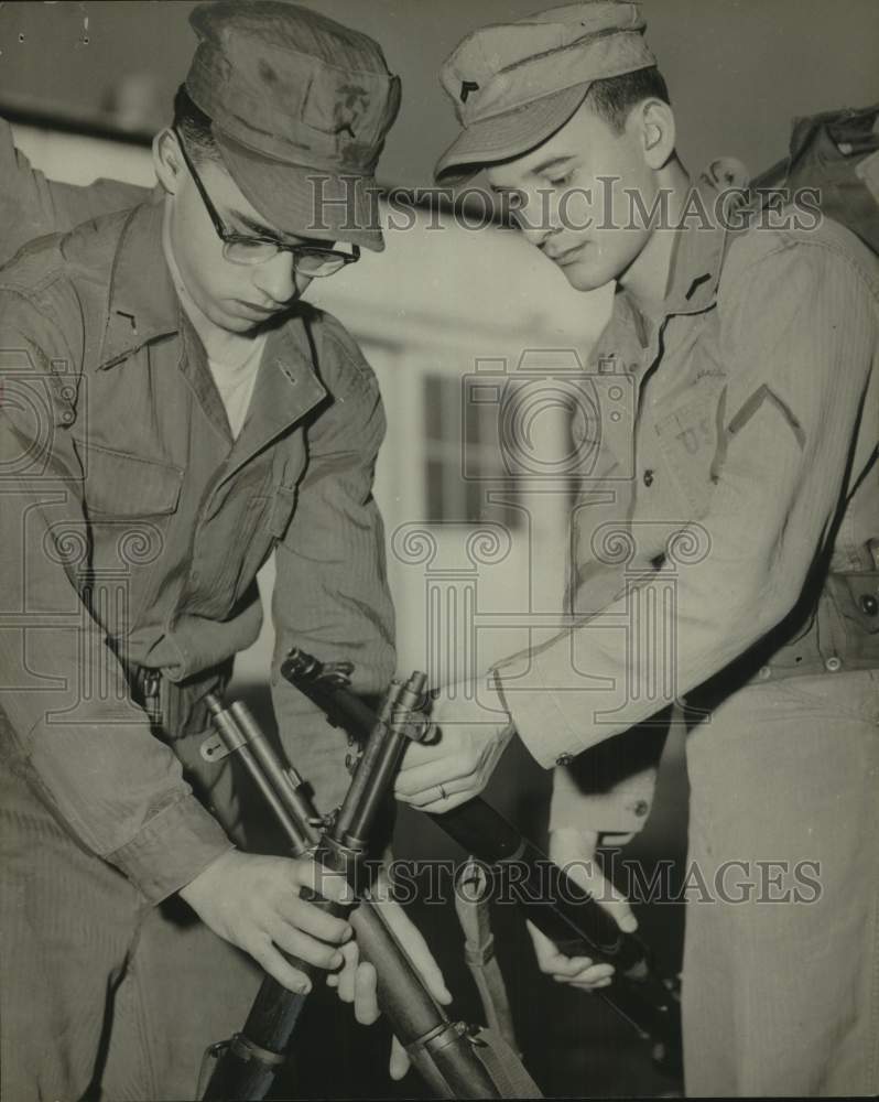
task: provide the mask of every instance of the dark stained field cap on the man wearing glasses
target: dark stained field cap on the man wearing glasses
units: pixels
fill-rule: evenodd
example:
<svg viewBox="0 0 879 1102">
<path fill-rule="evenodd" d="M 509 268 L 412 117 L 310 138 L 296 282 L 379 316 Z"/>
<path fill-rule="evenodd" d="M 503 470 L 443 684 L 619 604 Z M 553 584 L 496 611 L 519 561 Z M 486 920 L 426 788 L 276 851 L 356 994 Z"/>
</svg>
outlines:
<svg viewBox="0 0 879 1102">
<path fill-rule="evenodd" d="M 370 191 L 400 79 L 381 46 L 285 0 L 217 0 L 189 22 L 186 90 L 248 202 L 282 231 L 383 249 Z"/>
</svg>

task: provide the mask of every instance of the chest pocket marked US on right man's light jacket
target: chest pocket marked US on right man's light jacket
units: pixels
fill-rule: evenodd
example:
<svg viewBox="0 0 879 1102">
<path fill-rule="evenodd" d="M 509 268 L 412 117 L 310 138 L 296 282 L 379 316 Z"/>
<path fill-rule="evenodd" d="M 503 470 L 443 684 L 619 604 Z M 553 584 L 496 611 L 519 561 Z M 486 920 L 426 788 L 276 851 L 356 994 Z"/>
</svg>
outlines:
<svg viewBox="0 0 879 1102">
<path fill-rule="evenodd" d="M 705 516 L 714 495 L 717 418 L 717 397 L 706 393 L 656 423 L 662 454 L 694 519 Z"/>
</svg>

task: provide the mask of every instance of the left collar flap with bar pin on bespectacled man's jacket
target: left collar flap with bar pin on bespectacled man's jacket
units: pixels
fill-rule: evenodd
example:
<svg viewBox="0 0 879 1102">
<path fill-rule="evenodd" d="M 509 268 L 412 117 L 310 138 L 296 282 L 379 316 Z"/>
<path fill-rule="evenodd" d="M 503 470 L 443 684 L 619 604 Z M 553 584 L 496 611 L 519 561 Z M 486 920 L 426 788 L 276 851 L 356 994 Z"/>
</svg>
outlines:
<svg viewBox="0 0 879 1102">
<path fill-rule="evenodd" d="M 110 272 L 101 369 L 180 329 L 180 302 L 162 250 L 163 216 L 164 204 L 146 202 L 122 227 Z"/>
</svg>

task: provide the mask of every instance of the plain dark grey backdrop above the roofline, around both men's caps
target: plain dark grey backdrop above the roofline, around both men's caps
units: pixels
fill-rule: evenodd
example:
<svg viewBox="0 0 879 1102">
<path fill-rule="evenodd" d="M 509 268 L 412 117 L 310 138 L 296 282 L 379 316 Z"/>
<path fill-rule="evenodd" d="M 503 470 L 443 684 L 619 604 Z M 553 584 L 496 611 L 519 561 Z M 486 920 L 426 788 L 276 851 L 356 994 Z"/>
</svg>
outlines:
<svg viewBox="0 0 879 1102">
<path fill-rule="evenodd" d="M 476 26 L 519 19 L 541 0 L 305 0 L 375 35 L 403 82 L 382 179 L 425 184 L 453 140 L 443 58 Z M 161 122 L 194 46 L 189 2 L 4 3 L 0 100 L 95 117 L 122 100 L 135 126 Z M 648 41 L 669 79 L 693 169 L 778 160 L 792 116 L 879 99 L 876 0 L 644 0 Z M 144 114 L 143 91 L 152 106 Z M 132 102 L 133 100 L 133 102 Z"/>
</svg>

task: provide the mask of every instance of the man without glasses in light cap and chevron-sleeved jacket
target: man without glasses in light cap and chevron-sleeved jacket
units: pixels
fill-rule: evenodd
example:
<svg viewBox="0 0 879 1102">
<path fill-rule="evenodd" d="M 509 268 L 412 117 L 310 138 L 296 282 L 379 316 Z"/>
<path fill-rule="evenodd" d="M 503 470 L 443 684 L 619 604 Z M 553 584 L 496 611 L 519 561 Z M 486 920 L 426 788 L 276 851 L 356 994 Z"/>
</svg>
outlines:
<svg viewBox="0 0 879 1102">
<path fill-rule="evenodd" d="M 677 701 L 686 1092 L 875 1096 L 879 266 L 795 205 L 749 223 L 716 164 L 692 180 L 643 32 L 637 3 L 566 4 L 443 67 L 462 131 L 437 180 L 484 171 L 547 279 L 616 293 L 599 420 L 579 411 L 565 472 L 571 616 L 437 701 L 442 737 L 408 749 L 398 795 L 454 808 L 519 737 L 555 767 L 552 854 L 582 862 L 643 825 Z M 556 980 L 610 982 L 532 933 Z"/>
</svg>

